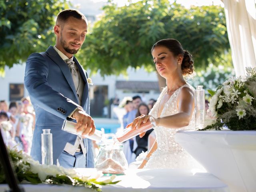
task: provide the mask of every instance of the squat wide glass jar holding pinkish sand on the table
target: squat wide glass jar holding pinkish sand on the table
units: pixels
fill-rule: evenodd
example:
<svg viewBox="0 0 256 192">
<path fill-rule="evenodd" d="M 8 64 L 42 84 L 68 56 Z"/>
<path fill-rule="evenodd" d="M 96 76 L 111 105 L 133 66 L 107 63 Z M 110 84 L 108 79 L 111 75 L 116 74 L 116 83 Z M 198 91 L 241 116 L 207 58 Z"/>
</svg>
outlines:
<svg viewBox="0 0 256 192">
<path fill-rule="evenodd" d="M 95 168 L 103 174 L 124 174 L 128 162 L 122 150 L 122 144 L 102 144 L 96 158 Z"/>
</svg>

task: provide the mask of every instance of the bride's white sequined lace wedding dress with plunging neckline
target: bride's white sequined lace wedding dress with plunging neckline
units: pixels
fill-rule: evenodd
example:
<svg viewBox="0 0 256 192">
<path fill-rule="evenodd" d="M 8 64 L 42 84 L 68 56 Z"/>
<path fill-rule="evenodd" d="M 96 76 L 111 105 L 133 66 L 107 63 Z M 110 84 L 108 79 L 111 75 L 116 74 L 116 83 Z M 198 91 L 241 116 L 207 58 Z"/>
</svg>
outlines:
<svg viewBox="0 0 256 192">
<path fill-rule="evenodd" d="M 170 99 L 164 105 L 164 108 L 160 114 L 160 117 L 170 116 L 178 113 L 177 109 L 177 97 L 180 90 L 184 87 L 190 88 L 194 92 L 194 88 L 188 84 L 185 84 L 178 88 Z M 150 115 L 157 118 L 158 108 L 160 101 L 164 94 L 166 94 L 167 87 L 165 87 L 160 96 L 157 99 L 156 104 L 150 111 Z M 161 169 L 161 168 L 198 168 L 200 165 L 188 152 L 186 152 L 178 143 L 175 142 L 175 134 L 178 130 L 194 129 L 195 115 L 190 120 L 190 124 L 182 128 L 166 128 L 163 126 L 156 126 L 154 128 L 156 134 L 156 140 L 158 147 L 156 151 L 150 156 L 150 159 L 144 166 L 144 168 Z"/>
</svg>

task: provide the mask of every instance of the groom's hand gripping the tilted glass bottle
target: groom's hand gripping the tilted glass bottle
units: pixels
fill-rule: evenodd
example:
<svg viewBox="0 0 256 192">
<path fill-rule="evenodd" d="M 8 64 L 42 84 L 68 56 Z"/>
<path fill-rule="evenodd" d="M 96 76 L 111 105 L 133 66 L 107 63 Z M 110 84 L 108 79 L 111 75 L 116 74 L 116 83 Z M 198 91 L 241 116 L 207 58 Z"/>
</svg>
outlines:
<svg viewBox="0 0 256 192">
<path fill-rule="evenodd" d="M 86 134 L 92 135 L 95 132 L 95 124 L 94 120 L 90 115 L 88 115 L 82 108 L 78 108 L 74 114 L 74 118 L 76 118 L 76 132 L 83 131 L 82 137 L 86 138 Z"/>
</svg>

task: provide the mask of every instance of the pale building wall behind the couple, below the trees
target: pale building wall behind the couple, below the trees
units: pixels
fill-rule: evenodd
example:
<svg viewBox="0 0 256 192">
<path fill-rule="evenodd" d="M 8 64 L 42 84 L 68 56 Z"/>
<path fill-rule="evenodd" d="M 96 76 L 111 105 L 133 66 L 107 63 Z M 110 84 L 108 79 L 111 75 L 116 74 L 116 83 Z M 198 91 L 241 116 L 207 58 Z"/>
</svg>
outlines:
<svg viewBox="0 0 256 192">
<path fill-rule="evenodd" d="M 100 74 L 90 75 L 90 70 L 87 70 L 89 77 L 92 78 L 93 86 L 90 86 L 90 89 L 93 89 L 94 86 L 108 86 L 108 99 L 115 98 L 118 96 L 120 100 L 124 98 L 124 96 L 134 96 L 137 93 L 127 92 L 127 90 L 116 90 L 116 80 L 130 80 L 130 81 L 158 81 L 155 72 L 148 73 L 143 68 L 140 70 L 134 70 L 132 68 L 128 68 L 128 76 L 120 75 L 120 76 L 106 76 L 105 78 L 101 77 Z M 0 77 L 0 100 L 6 100 L 9 102 L 9 86 L 12 83 L 15 84 L 23 84 L 24 83 L 24 72 L 25 72 L 25 64 L 14 64 L 12 68 L 5 68 L 5 76 Z M 147 100 L 150 98 L 157 98 L 159 96 L 159 92 L 155 90 L 150 90 L 149 94 L 139 94 L 140 96 L 145 97 Z M 24 96 L 28 96 L 28 92 L 25 89 Z"/>
</svg>

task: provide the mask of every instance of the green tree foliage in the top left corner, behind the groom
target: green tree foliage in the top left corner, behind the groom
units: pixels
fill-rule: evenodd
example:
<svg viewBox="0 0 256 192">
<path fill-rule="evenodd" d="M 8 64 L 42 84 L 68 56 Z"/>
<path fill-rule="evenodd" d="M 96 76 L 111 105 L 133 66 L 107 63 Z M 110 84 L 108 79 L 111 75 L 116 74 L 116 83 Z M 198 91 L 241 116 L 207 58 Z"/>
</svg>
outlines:
<svg viewBox="0 0 256 192">
<path fill-rule="evenodd" d="M 0 0 L 0 72 L 54 44 L 54 16 L 66 0 Z"/>
</svg>

